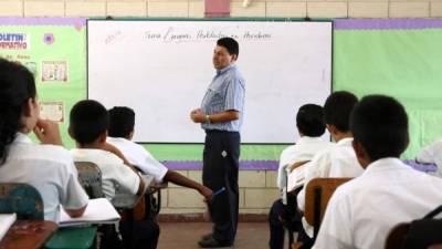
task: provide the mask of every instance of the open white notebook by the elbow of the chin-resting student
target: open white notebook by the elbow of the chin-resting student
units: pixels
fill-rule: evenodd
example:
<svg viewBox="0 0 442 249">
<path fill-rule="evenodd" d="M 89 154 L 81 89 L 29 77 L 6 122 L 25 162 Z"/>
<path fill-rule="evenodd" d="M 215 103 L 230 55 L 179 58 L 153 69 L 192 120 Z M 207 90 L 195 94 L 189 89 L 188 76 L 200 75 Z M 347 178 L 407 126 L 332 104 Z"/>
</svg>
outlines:
<svg viewBox="0 0 442 249">
<path fill-rule="evenodd" d="M 71 218 L 63 208 L 60 210 L 60 227 L 88 224 L 115 224 L 120 219 L 114 206 L 106 198 L 90 199 L 83 216 Z"/>
</svg>

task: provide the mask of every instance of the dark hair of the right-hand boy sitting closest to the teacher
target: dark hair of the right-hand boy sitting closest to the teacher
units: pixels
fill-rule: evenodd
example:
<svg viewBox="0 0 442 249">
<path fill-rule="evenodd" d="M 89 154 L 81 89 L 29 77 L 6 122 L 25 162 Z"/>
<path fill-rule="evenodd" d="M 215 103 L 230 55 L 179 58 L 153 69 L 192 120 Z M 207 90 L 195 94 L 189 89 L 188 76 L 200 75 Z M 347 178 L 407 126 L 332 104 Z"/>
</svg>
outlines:
<svg viewBox="0 0 442 249">
<path fill-rule="evenodd" d="M 296 126 L 306 136 L 322 136 L 325 132 L 323 107 L 315 104 L 305 104 L 296 114 Z"/>
</svg>

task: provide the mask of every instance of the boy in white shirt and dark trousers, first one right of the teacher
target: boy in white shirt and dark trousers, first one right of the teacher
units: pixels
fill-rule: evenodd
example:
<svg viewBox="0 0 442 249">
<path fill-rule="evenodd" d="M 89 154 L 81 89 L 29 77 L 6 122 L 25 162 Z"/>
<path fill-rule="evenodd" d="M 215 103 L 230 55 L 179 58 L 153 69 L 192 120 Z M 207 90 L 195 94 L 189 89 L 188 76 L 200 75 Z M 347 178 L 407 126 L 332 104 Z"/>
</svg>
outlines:
<svg viewBox="0 0 442 249">
<path fill-rule="evenodd" d="M 325 123 L 323 120 L 323 107 L 315 104 L 306 104 L 299 107 L 296 114 L 296 128 L 299 134 L 299 139 L 296 144 L 286 147 L 281 153 L 280 168 L 277 172 L 277 187 L 282 193 L 282 199 L 277 199 L 269 214 L 270 224 L 270 241 L 269 246 L 271 249 L 284 248 L 284 227 L 283 222 L 286 222 L 292 227 L 293 230 L 296 226 L 299 226 L 301 217 L 296 217 L 296 196 L 288 197 L 290 201 L 283 201 L 286 196 L 286 178 L 287 178 L 287 166 L 298 162 L 311 160 L 313 156 L 327 146 L 329 142 L 325 142 L 320 136 L 325 132 Z M 302 167 L 295 169 L 292 174 L 297 174 L 298 179 L 304 177 Z M 292 201 L 294 200 L 294 201 Z"/>
</svg>

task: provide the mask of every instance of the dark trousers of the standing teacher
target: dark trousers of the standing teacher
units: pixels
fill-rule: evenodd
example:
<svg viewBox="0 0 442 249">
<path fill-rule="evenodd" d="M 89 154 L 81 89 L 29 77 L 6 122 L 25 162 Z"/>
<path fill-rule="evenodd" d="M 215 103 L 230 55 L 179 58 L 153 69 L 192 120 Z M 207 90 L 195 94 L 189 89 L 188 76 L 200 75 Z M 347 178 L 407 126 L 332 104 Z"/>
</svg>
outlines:
<svg viewBox="0 0 442 249">
<path fill-rule="evenodd" d="M 206 131 L 202 181 L 213 191 L 225 187 L 209 204 L 213 237 L 222 243 L 233 243 L 236 235 L 240 143 L 238 132 Z"/>
</svg>

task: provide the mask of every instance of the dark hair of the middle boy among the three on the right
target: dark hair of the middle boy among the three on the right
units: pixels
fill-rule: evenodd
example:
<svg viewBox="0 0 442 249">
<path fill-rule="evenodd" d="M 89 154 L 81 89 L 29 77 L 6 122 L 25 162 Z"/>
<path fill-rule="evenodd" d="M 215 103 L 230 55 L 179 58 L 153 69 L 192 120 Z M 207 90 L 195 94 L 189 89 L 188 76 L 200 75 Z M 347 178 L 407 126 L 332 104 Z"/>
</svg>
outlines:
<svg viewBox="0 0 442 249">
<path fill-rule="evenodd" d="M 338 91 L 332 93 L 324 104 L 324 121 L 334 125 L 339 132 L 349 132 L 350 113 L 358 98 L 355 94 Z"/>
</svg>

